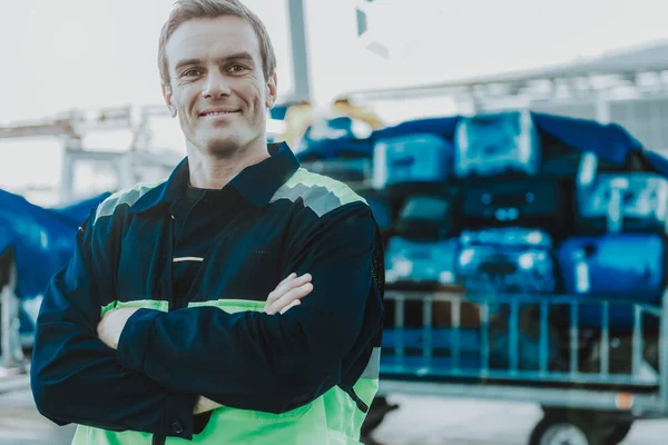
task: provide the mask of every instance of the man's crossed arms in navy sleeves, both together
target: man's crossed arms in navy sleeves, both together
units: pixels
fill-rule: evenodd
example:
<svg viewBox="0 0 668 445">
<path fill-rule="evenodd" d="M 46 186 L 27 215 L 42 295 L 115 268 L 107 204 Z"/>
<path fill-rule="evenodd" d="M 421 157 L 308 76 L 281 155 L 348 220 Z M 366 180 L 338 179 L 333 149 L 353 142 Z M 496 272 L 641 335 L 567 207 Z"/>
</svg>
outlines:
<svg viewBox="0 0 668 445">
<path fill-rule="evenodd" d="M 45 416 L 60 425 L 190 438 L 193 413 L 210 406 L 200 396 L 279 413 L 338 383 L 372 286 L 375 225 L 366 206 L 342 211 L 291 250 L 285 267 L 310 271 L 317 285 L 298 310 L 275 315 L 292 304 L 283 297 L 294 288 L 275 294 L 267 313 L 139 309 L 127 323 L 110 323 L 124 325 L 118 338 L 109 335 L 117 350 L 98 334 L 100 303 L 116 299 L 112 274 L 102 273 L 115 270 L 102 224 L 79 233 L 73 258 L 51 280 L 40 310 L 31 384 Z M 183 428 L 173 428 L 177 422 Z"/>
</svg>

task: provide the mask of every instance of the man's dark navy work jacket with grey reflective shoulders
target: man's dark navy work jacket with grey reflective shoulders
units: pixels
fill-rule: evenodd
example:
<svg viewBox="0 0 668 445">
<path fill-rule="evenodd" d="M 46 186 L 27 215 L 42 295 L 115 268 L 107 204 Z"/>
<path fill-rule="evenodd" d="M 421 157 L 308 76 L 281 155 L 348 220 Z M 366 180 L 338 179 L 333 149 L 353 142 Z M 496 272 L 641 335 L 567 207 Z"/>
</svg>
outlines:
<svg viewBox="0 0 668 445">
<path fill-rule="evenodd" d="M 351 394 L 383 317 L 383 251 L 367 205 L 347 186 L 299 168 L 286 145 L 248 167 L 209 206 L 208 246 L 187 295 L 174 295 L 173 239 L 187 159 L 167 181 L 102 202 L 80 228 L 69 265 L 50 281 L 31 367 L 45 416 L 63 425 L 190 438 L 199 395 L 282 413 L 338 385 Z M 187 307 L 264 301 L 291 273 L 314 290 L 284 315 Z M 139 309 L 118 350 L 97 336 L 101 308 Z M 355 397 L 354 393 L 351 394 Z"/>
</svg>

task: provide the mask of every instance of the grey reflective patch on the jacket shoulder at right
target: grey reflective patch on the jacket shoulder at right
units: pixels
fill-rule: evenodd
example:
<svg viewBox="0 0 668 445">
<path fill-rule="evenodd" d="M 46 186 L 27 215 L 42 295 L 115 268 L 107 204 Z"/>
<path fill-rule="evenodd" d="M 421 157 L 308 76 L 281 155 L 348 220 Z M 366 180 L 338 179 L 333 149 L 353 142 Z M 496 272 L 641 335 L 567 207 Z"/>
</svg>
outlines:
<svg viewBox="0 0 668 445">
<path fill-rule="evenodd" d="M 318 217 L 350 202 L 366 202 L 345 184 L 312 174 L 304 168 L 299 168 L 276 190 L 269 202 L 279 199 L 294 202 L 298 198 L 304 201 L 304 207 L 311 208 Z"/>
</svg>

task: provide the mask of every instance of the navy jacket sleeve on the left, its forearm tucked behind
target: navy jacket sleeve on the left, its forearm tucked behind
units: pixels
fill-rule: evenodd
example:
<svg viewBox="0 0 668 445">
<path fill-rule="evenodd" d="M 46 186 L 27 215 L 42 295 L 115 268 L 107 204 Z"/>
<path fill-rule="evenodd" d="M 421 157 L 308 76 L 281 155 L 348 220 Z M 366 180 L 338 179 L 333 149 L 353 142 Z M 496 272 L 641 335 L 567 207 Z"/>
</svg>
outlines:
<svg viewBox="0 0 668 445">
<path fill-rule="evenodd" d="M 105 219 L 84 224 L 72 258 L 46 290 L 30 369 L 35 402 L 58 425 L 189 438 L 196 395 L 168 390 L 119 366 L 115 350 L 97 336 L 100 301 L 112 296 L 116 270 L 111 218 Z"/>
</svg>

